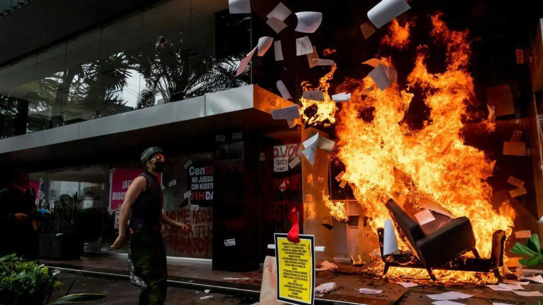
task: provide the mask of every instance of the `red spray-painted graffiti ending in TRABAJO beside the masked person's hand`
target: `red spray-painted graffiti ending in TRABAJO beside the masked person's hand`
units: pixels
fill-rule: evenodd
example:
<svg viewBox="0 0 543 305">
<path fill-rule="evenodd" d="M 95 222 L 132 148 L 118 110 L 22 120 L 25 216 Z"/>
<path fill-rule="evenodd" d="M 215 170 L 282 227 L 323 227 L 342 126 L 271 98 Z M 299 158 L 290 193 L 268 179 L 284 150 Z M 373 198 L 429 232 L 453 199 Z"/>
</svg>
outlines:
<svg viewBox="0 0 543 305">
<path fill-rule="evenodd" d="M 201 207 L 194 211 L 181 208 L 166 211 L 166 215 L 188 226 L 188 230 L 180 231 L 162 224 L 162 235 L 168 255 L 211 258 L 213 208 Z"/>
</svg>

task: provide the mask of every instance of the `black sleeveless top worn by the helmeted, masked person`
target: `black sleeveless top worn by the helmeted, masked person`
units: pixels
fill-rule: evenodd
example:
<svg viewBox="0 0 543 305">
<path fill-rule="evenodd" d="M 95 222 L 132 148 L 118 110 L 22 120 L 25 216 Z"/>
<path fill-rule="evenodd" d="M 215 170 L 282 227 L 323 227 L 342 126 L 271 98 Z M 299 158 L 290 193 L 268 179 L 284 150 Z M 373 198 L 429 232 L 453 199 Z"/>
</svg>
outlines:
<svg viewBox="0 0 543 305">
<path fill-rule="evenodd" d="M 148 170 L 138 177 L 145 177 L 147 186 L 132 204 L 130 228 L 134 230 L 160 230 L 162 188 L 159 180 Z"/>
</svg>

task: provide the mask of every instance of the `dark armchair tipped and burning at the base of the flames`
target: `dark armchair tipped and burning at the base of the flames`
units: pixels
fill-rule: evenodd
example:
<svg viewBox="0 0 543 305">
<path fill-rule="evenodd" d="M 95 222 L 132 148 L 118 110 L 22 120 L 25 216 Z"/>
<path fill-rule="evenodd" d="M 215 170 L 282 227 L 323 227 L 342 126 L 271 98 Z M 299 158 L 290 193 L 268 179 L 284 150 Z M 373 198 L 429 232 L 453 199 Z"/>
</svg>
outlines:
<svg viewBox="0 0 543 305">
<path fill-rule="evenodd" d="M 419 225 L 394 200 L 389 200 L 387 208 L 392 214 L 398 231 L 408 240 L 413 253 L 391 254 L 383 256 L 384 271 L 390 266 L 424 268 L 435 281 L 433 269 L 494 272 L 499 277 L 498 269 L 503 265 L 503 245 L 505 234 L 496 231 L 493 235 L 493 249 L 489 259 L 479 257 L 475 248 L 475 236 L 470 220 L 466 217 L 441 219 L 431 226 Z M 445 218 L 444 215 L 439 215 Z M 379 244 L 383 253 L 383 229 L 378 229 Z M 467 252 L 475 258 L 460 258 Z"/>
</svg>

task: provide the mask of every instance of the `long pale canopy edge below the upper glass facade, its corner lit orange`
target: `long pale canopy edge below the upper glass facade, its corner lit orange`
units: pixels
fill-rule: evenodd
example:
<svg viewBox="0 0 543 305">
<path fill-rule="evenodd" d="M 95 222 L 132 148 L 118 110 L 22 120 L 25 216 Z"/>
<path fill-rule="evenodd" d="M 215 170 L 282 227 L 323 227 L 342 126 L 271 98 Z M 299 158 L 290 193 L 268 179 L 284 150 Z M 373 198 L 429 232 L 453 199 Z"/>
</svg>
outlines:
<svg viewBox="0 0 543 305">
<path fill-rule="evenodd" d="M 2 1 L 2 0 L 0 0 Z M 257 109 L 270 113 L 293 103 L 255 85 L 214 92 L 118 115 L 0 139 L 0 154 L 104 135 Z"/>
</svg>

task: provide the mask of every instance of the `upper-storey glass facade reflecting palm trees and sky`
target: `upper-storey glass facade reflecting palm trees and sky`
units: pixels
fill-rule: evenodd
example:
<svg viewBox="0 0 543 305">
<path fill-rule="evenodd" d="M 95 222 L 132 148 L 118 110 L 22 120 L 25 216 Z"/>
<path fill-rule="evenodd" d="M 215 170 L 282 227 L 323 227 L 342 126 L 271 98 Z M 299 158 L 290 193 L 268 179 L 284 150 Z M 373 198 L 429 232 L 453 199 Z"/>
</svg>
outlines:
<svg viewBox="0 0 543 305">
<path fill-rule="evenodd" d="M 0 138 L 248 84 L 250 26 L 226 1 L 173 0 L 4 66 Z"/>
</svg>

